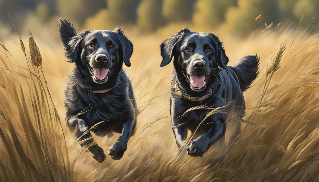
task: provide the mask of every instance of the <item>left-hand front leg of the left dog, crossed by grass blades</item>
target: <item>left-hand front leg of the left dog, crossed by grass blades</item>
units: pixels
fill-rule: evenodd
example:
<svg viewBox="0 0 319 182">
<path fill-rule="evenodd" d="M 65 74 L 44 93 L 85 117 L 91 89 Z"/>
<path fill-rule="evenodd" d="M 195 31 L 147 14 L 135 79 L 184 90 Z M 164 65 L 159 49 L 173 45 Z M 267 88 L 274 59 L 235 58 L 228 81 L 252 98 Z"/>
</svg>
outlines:
<svg viewBox="0 0 319 182">
<path fill-rule="evenodd" d="M 81 147 L 89 147 L 94 142 L 90 132 L 84 134 L 89 129 L 84 120 L 78 118 L 77 116 L 66 117 L 66 120 L 67 126 L 69 127 L 70 131 L 73 131 L 75 127 L 78 128 L 78 130 L 75 133 L 75 136 L 77 137 L 78 142 L 81 142 Z M 103 149 L 100 148 L 98 144 L 90 146 L 88 148 L 88 151 L 92 153 L 92 157 L 99 163 L 102 163 L 106 158 Z"/>
</svg>

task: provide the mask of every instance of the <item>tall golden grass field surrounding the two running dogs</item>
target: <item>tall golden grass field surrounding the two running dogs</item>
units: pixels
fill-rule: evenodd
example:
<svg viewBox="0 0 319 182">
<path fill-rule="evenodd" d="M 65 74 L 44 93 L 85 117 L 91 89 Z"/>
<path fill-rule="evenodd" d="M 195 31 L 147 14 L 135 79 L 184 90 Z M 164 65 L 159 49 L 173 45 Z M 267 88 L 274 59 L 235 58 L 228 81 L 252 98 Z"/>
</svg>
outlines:
<svg viewBox="0 0 319 182">
<path fill-rule="evenodd" d="M 60 40 L 41 41 L 33 34 L 43 62 L 35 67 L 27 36 L 22 36 L 26 56 L 18 36 L 2 38 L 8 51 L 0 50 L 0 181 L 318 181 L 319 33 L 259 32 L 221 36 L 228 65 L 246 55 L 260 56 L 260 75 L 244 92 L 241 134 L 227 150 L 212 147 L 196 158 L 184 150 L 177 160 L 168 96 L 173 66 L 159 68 L 158 47 L 175 32 L 127 31 L 134 52 L 132 66 L 123 67 L 142 112 L 123 158 L 107 155 L 101 164 L 65 124 L 63 90 L 73 64 L 65 61 Z M 281 67 L 267 76 L 264 89 L 272 57 L 285 41 Z M 119 134 L 93 137 L 107 152 Z M 219 155 L 222 151 L 227 153 Z"/>
</svg>

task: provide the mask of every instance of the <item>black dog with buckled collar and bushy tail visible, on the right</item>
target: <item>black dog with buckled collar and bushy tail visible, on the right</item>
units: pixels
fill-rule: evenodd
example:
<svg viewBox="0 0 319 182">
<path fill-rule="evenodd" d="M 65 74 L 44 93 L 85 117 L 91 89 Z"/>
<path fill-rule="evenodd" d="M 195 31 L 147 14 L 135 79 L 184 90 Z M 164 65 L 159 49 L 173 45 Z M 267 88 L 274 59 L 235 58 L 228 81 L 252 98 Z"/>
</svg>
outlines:
<svg viewBox="0 0 319 182">
<path fill-rule="evenodd" d="M 233 140 L 240 131 L 240 122 L 238 118 L 232 119 L 245 114 L 242 92 L 258 75 L 257 55 L 246 56 L 235 66 L 226 66 L 228 57 L 219 37 L 213 33 L 191 32 L 188 28 L 165 40 L 160 49 L 163 58 L 160 67 L 174 56 L 170 113 L 177 146 L 183 145 L 188 130 L 193 134 L 196 131 L 195 140 L 186 148 L 192 157 L 203 156 L 224 135 Z M 206 109 L 186 112 L 199 105 Z M 208 114 L 213 108 L 219 108 L 218 112 Z M 236 115 L 231 117 L 233 113 Z"/>
</svg>

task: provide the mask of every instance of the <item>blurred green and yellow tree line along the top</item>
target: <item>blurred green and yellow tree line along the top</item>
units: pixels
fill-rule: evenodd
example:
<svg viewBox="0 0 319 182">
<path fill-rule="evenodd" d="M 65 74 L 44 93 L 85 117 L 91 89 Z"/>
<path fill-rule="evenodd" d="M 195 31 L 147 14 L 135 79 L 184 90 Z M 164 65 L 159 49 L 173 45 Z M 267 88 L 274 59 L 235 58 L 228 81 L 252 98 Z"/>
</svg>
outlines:
<svg viewBox="0 0 319 182">
<path fill-rule="evenodd" d="M 178 22 L 247 34 L 264 22 L 281 21 L 304 25 L 319 23 L 319 0 L 0 0 L 0 25 L 11 18 L 18 26 L 26 22 L 47 24 L 56 17 L 70 19 L 81 27 L 112 29 L 117 25 L 137 25 L 141 32 Z M 255 17 L 262 18 L 254 21 Z M 29 18 L 29 19 L 28 19 Z"/>
</svg>

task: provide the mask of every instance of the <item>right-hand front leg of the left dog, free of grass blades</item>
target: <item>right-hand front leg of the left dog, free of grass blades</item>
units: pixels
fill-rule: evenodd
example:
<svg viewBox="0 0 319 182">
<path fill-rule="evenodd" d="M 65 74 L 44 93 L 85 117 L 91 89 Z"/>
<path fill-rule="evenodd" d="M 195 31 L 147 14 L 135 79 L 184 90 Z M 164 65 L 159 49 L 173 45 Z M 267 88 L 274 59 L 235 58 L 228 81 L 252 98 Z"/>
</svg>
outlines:
<svg viewBox="0 0 319 182">
<path fill-rule="evenodd" d="M 134 122 L 135 118 L 123 123 L 119 139 L 108 149 L 108 155 L 110 155 L 112 159 L 120 160 L 123 157 L 123 154 L 127 149 L 127 142 L 132 134 Z"/>
</svg>

